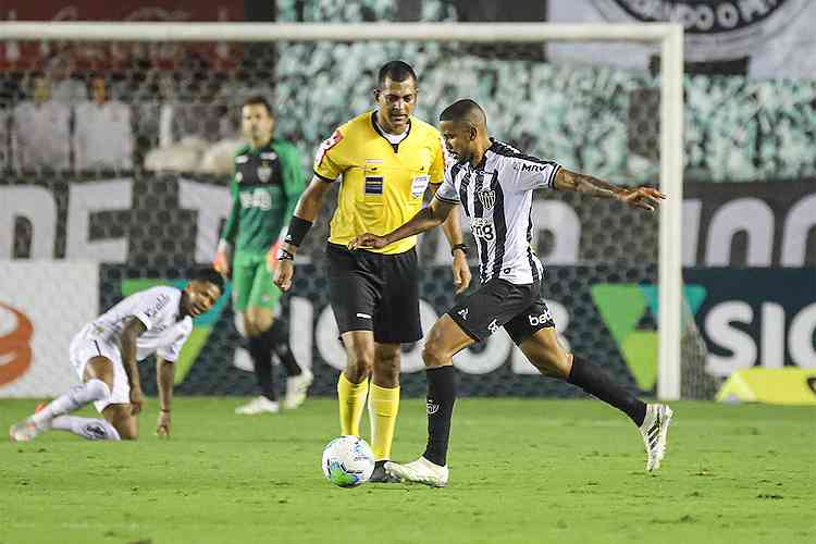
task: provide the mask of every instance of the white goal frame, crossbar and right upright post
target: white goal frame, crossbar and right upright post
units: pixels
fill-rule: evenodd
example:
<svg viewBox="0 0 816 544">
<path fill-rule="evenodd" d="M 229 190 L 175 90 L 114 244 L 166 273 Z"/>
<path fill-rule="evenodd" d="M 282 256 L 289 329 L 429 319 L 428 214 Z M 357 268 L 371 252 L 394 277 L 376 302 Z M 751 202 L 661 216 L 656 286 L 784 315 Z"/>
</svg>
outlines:
<svg viewBox="0 0 816 544">
<path fill-rule="evenodd" d="M 335 40 L 542 44 L 618 41 L 654 46 L 660 61 L 659 187 L 668 195 L 659 213 L 659 331 L 657 396 L 681 392 L 683 190 L 683 28 L 679 24 L 548 23 L 61 23 L 3 22 L 0 40 L 270 42 Z M 490 106 L 490 104 L 487 104 Z M 557 157 L 555 157 L 557 159 Z"/>
</svg>

